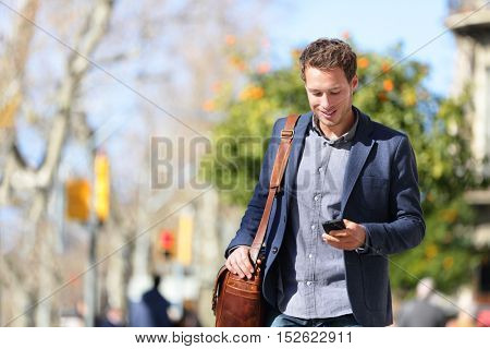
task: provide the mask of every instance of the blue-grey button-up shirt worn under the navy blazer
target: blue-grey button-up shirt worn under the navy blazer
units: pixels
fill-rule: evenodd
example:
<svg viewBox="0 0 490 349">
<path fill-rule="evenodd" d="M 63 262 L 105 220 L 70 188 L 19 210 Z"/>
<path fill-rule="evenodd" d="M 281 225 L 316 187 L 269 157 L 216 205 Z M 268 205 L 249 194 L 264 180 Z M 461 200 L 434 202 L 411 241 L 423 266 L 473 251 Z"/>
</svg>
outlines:
<svg viewBox="0 0 490 349">
<path fill-rule="evenodd" d="M 324 318 L 352 313 L 343 251 L 322 241 L 321 224 L 340 215 L 355 116 L 353 128 L 338 140 L 323 135 L 315 116 L 306 132 L 279 263 L 278 308 L 286 315 Z"/>
</svg>

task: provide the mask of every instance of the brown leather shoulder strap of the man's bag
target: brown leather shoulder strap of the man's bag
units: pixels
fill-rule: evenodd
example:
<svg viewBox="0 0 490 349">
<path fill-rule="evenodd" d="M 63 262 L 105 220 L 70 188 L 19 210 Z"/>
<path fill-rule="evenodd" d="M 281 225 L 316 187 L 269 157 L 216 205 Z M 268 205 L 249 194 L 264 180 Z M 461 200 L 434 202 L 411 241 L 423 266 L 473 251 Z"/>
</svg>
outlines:
<svg viewBox="0 0 490 349">
<path fill-rule="evenodd" d="M 298 115 L 290 115 L 284 124 L 284 129 L 281 131 L 281 143 L 279 144 L 278 153 L 275 154 L 274 165 L 272 167 L 272 173 L 270 176 L 269 195 L 267 196 L 266 207 L 264 208 L 262 218 L 260 225 L 255 234 L 254 242 L 250 246 L 250 260 L 254 265 L 257 264 L 258 255 L 266 237 L 267 225 L 269 222 L 270 209 L 272 208 L 272 202 L 275 194 L 280 191 L 284 170 L 287 165 L 287 160 L 291 153 L 291 144 L 294 137 L 294 127 L 296 125 Z"/>
</svg>

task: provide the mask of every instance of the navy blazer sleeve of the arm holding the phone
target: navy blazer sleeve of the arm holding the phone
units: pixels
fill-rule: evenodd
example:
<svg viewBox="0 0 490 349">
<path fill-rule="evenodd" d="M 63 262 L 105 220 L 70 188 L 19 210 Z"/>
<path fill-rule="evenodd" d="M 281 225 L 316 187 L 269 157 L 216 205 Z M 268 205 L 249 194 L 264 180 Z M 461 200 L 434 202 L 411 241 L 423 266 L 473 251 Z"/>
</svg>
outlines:
<svg viewBox="0 0 490 349">
<path fill-rule="evenodd" d="M 367 253 L 391 254 L 418 245 L 426 225 L 420 207 L 420 192 L 415 154 L 403 135 L 394 152 L 390 181 L 391 222 L 366 222 Z"/>
</svg>

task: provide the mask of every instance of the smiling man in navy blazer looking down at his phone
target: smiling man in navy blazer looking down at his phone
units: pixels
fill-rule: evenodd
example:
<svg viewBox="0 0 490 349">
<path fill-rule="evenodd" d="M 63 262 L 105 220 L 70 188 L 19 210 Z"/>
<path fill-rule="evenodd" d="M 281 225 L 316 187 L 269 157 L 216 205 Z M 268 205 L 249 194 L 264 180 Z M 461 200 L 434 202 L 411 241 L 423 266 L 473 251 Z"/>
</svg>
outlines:
<svg viewBox="0 0 490 349">
<path fill-rule="evenodd" d="M 425 224 L 409 141 L 352 106 L 356 55 L 318 39 L 299 58 L 311 112 L 295 128 L 283 190 L 265 240 L 271 326 L 392 324 L 388 255 L 420 243 Z M 225 255 L 250 277 L 249 245 L 268 194 L 285 119 L 275 122 L 259 182 Z M 346 229 L 324 233 L 343 218 Z"/>
</svg>

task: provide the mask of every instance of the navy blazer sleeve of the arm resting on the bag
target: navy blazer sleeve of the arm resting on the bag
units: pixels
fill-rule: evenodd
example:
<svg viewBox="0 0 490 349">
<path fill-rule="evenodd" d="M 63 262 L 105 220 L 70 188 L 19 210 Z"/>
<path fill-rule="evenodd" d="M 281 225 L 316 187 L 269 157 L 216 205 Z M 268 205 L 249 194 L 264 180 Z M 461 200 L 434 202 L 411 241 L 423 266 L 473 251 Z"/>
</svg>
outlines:
<svg viewBox="0 0 490 349">
<path fill-rule="evenodd" d="M 259 180 L 255 185 L 254 194 L 242 218 L 240 229 L 226 248 L 226 251 L 224 253 L 225 257 L 229 256 L 230 252 L 234 250 L 234 248 L 238 245 L 252 245 L 252 242 L 254 241 L 255 234 L 260 224 L 260 219 L 262 218 L 264 208 L 266 207 L 267 196 L 269 194 L 270 176 L 275 159 L 275 153 L 278 152 L 280 143 L 279 135 L 282 128 L 284 127 L 284 118 L 279 119 L 274 123 L 274 127 L 272 129 L 272 136 L 264 156 Z"/>
</svg>

